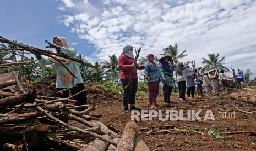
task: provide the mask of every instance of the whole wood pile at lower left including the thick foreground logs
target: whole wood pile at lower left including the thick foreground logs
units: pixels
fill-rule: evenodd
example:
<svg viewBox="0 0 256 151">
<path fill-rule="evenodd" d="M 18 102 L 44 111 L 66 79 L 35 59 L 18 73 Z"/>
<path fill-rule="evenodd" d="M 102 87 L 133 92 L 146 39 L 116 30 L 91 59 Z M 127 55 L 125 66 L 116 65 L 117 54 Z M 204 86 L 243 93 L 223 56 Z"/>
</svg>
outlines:
<svg viewBox="0 0 256 151">
<path fill-rule="evenodd" d="M 6 88 L 15 84 L 19 91 Z M 120 136 L 114 127 L 110 129 L 97 121 L 101 115 L 90 114 L 95 107 L 75 106 L 75 95 L 40 96 L 35 89 L 25 92 L 17 78 L 0 82 L 0 135 L 4 136 L 0 138 L 0 149 L 149 150 L 137 136 L 135 122 L 127 123 Z"/>
</svg>

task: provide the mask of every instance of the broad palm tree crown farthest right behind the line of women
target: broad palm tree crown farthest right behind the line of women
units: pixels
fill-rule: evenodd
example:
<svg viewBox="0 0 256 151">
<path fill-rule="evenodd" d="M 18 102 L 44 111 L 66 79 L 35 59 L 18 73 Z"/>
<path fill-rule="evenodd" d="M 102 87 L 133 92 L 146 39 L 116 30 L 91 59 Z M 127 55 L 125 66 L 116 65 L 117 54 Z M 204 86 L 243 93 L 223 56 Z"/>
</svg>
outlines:
<svg viewBox="0 0 256 151">
<path fill-rule="evenodd" d="M 230 71 L 227 67 L 225 67 L 225 57 L 221 57 L 219 60 L 220 54 L 208 54 L 209 59 L 203 58 L 203 65 L 204 67 L 201 69 L 201 72 L 204 72 L 206 70 L 215 69 L 217 73 L 219 73 L 220 69 L 223 69 L 225 72 Z"/>
</svg>

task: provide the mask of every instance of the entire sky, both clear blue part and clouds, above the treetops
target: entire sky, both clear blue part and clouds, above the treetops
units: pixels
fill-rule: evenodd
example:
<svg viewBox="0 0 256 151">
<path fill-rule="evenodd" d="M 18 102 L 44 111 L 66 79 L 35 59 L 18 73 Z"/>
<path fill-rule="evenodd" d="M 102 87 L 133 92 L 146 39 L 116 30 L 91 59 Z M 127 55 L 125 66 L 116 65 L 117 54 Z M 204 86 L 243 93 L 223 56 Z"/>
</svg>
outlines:
<svg viewBox="0 0 256 151">
<path fill-rule="evenodd" d="M 255 0 L 1 0 L 0 12 L 0 35 L 40 48 L 63 36 L 91 62 L 127 44 L 160 57 L 177 43 L 188 54 L 181 61 L 201 66 L 207 54 L 220 53 L 228 68 L 256 75 Z"/>
</svg>

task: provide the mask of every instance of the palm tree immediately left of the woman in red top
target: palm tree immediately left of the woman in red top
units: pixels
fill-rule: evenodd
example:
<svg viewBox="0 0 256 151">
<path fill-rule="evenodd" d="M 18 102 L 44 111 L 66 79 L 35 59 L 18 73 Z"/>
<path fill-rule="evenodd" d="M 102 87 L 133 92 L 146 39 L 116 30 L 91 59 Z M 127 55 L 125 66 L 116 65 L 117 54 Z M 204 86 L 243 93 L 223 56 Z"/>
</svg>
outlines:
<svg viewBox="0 0 256 151">
<path fill-rule="evenodd" d="M 110 61 L 106 61 L 104 60 L 104 62 L 102 62 L 103 67 L 107 69 L 106 74 L 108 72 L 112 72 L 112 80 L 116 80 L 118 77 L 118 71 L 117 71 L 117 64 L 118 64 L 118 59 L 116 55 L 109 55 L 108 56 Z"/>
</svg>

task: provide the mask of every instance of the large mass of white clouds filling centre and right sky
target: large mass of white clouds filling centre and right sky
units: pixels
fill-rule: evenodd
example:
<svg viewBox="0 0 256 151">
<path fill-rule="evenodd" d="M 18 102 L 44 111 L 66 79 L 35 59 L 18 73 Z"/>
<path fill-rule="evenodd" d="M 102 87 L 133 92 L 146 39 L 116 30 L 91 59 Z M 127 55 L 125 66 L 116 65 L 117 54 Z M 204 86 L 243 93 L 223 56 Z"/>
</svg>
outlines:
<svg viewBox="0 0 256 151">
<path fill-rule="evenodd" d="M 253 0 L 104 0 L 79 3 L 61 22 L 95 45 L 97 60 L 119 55 L 127 44 L 142 46 L 141 56 L 160 56 L 163 48 L 178 43 L 189 55 L 181 61 L 193 59 L 201 66 L 202 57 L 220 53 L 228 67 L 251 68 L 256 74 L 254 14 Z"/>
</svg>

